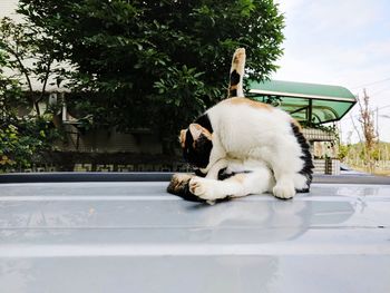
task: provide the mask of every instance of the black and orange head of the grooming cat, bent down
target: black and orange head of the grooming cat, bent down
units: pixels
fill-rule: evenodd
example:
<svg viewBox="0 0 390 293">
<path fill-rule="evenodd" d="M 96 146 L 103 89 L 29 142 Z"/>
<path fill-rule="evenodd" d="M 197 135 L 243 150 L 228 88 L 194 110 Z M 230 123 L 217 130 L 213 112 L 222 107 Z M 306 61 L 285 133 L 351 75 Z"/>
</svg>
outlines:
<svg viewBox="0 0 390 293">
<path fill-rule="evenodd" d="M 198 124 L 191 124 L 181 131 L 179 141 L 186 162 L 198 168 L 206 168 L 213 148 L 212 134 Z"/>
</svg>

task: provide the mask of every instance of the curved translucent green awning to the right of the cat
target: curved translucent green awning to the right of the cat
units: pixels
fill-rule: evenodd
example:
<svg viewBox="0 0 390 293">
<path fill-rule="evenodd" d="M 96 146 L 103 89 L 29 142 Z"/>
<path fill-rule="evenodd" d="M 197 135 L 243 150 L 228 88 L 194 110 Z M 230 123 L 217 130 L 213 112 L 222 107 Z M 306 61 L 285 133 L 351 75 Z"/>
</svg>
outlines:
<svg viewBox="0 0 390 293">
<path fill-rule="evenodd" d="M 280 106 L 308 126 L 340 120 L 357 102 L 344 87 L 281 80 L 250 81 L 247 97 Z"/>
</svg>

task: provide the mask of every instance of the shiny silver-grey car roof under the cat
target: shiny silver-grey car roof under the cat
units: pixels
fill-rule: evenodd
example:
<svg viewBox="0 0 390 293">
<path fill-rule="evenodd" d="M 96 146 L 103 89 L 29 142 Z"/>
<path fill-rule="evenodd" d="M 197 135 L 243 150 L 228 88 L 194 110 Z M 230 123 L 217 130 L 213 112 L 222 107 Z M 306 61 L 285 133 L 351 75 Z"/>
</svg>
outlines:
<svg viewBox="0 0 390 293">
<path fill-rule="evenodd" d="M 315 178 L 292 201 L 213 206 L 167 194 L 163 178 L 2 184 L 0 286 L 389 292 L 390 185 Z"/>
</svg>

